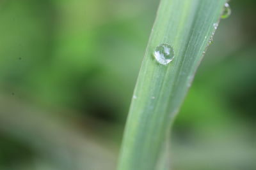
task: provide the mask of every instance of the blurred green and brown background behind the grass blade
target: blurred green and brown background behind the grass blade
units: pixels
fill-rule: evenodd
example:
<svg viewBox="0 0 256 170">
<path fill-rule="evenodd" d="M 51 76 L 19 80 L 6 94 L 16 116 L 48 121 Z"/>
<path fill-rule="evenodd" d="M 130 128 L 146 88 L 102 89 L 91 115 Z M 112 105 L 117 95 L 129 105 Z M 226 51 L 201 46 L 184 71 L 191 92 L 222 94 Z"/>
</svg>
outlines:
<svg viewBox="0 0 256 170">
<path fill-rule="evenodd" d="M 0 169 L 115 169 L 159 1 L 0 1 Z M 172 127 L 172 169 L 256 169 L 254 0 L 230 2 Z"/>
</svg>

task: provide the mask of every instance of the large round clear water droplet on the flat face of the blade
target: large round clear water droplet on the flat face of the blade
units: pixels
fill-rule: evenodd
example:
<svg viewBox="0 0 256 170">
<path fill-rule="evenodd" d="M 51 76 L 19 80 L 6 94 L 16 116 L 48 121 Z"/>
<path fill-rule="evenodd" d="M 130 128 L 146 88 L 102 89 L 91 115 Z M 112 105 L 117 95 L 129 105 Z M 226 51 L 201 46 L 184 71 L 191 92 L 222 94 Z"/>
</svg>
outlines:
<svg viewBox="0 0 256 170">
<path fill-rule="evenodd" d="M 163 65 L 166 65 L 170 63 L 174 58 L 173 48 L 168 44 L 161 44 L 156 47 L 154 56 L 157 62 Z"/>
</svg>

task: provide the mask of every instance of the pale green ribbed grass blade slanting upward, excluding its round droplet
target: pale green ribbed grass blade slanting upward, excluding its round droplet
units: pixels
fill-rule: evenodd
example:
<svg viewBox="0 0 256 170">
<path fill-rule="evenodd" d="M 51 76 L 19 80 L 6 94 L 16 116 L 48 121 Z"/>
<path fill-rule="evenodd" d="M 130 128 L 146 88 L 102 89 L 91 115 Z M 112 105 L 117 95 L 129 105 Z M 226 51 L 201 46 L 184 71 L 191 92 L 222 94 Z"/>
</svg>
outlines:
<svg viewBox="0 0 256 170">
<path fill-rule="evenodd" d="M 156 169 L 168 129 L 214 34 L 226 0 L 162 0 L 140 69 L 118 164 L 119 170 Z M 156 46 L 173 46 L 161 65 Z M 175 156 L 175 155 L 174 155 Z"/>
</svg>

